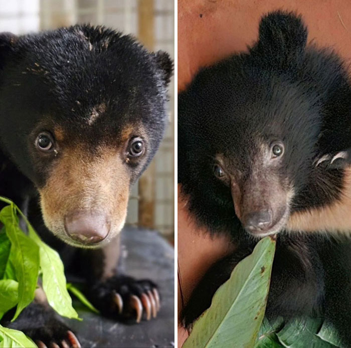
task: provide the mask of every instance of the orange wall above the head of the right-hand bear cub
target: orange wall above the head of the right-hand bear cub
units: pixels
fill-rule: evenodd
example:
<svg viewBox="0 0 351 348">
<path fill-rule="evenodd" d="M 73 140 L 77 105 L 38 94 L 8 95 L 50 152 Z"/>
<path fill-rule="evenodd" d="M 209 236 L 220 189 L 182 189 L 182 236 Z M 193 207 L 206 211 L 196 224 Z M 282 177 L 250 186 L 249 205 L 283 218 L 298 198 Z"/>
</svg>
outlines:
<svg viewBox="0 0 351 348">
<path fill-rule="evenodd" d="M 179 0 L 179 90 L 199 67 L 245 50 L 257 38 L 262 14 L 277 9 L 301 14 L 309 41 L 332 46 L 342 57 L 351 58 L 349 0 Z"/>
</svg>

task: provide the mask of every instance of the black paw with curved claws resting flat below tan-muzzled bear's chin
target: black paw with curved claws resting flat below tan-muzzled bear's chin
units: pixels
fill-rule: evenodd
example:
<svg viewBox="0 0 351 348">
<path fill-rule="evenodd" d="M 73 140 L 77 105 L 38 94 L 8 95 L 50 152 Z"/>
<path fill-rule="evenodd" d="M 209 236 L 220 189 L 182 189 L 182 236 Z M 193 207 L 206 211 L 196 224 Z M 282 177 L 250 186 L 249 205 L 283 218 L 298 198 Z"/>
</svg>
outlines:
<svg viewBox="0 0 351 348">
<path fill-rule="evenodd" d="M 147 279 L 113 276 L 95 284 L 89 297 L 102 314 L 136 322 L 155 318 L 160 308 L 157 286 Z"/>
</svg>

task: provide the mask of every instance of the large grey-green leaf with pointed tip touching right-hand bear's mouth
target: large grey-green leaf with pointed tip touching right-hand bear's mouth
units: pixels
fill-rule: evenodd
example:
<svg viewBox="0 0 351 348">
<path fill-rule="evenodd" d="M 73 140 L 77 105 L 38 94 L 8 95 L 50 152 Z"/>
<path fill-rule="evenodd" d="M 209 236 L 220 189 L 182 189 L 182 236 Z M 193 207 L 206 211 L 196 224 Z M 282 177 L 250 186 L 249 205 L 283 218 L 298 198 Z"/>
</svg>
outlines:
<svg viewBox="0 0 351 348">
<path fill-rule="evenodd" d="M 251 348 L 263 320 L 275 241 L 266 237 L 238 263 L 195 322 L 183 348 Z"/>
</svg>

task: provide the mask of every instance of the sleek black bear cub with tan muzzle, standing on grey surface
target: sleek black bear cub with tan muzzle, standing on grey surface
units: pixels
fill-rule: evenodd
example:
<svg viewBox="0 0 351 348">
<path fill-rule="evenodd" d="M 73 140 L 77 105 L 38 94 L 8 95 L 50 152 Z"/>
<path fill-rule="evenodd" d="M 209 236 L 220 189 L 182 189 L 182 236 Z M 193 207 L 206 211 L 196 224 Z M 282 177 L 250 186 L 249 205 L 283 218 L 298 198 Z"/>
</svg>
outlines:
<svg viewBox="0 0 351 348">
<path fill-rule="evenodd" d="M 160 305 L 155 284 L 116 274 L 115 261 L 129 188 L 166 125 L 171 74 L 165 52 L 104 27 L 0 35 L 0 195 L 27 213 L 66 271 L 86 279 L 91 302 L 115 318 L 149 319 Z M 40 303 L 8 325 L 43 346 L 79 344 Z"/>
</svg>

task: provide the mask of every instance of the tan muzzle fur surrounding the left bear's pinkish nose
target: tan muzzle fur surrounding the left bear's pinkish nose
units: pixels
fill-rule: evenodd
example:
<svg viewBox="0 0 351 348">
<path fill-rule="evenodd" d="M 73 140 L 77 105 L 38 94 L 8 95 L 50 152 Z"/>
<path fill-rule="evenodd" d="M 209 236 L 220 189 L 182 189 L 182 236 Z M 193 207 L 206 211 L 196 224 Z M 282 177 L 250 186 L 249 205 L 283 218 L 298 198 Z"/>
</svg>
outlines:
<svg viewBox="0 0 351 348">
<path fill-rule="evenodd" d="M 105 215 L 110 231 L 102 246 L 124 225 L 130 169 L 115 148 L 101 147 L 91 154 L 84 146 L 66 148 L 38 188 L 46 226 L 68 244 L 83 247 L 65 232 L 65 217 L 81 212 Z M 92 246 L 89 246 L 92 247 Z"/>
</svg>

